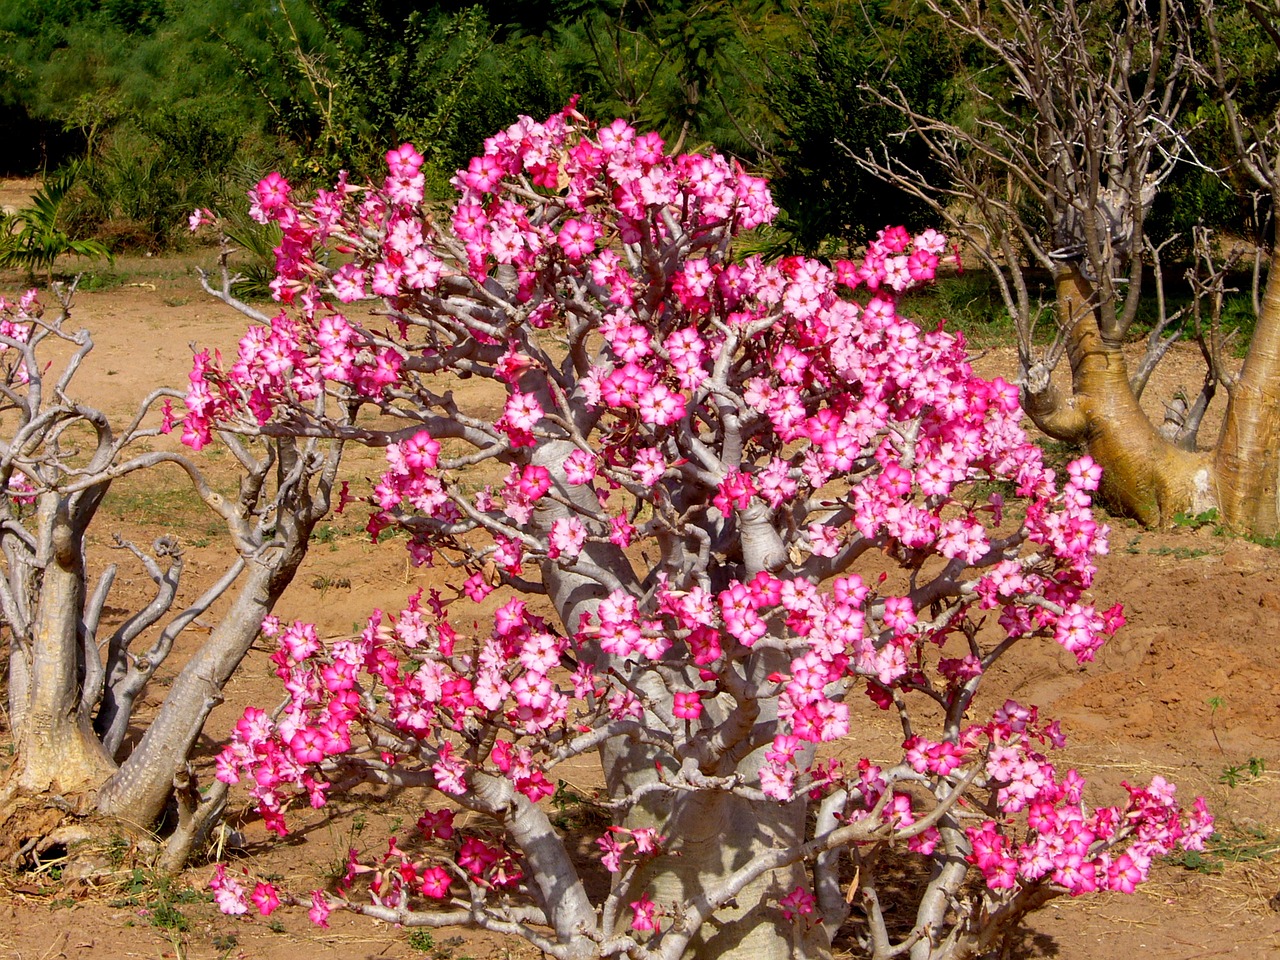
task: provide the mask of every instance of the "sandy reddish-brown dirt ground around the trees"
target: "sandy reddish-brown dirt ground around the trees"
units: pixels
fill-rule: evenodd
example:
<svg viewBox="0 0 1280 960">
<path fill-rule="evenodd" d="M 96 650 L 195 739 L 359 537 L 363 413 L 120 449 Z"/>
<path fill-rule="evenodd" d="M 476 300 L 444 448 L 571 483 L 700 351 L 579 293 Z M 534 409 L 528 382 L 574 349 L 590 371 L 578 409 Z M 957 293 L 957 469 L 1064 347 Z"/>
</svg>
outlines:
<svg viewBox="0 0 1280 960">
<path fill-rule="evenodd" d="M 0 200 L 5 200 L 0 191 Z M 159 379 L 182 384 L 191 343 L 234 349 L 243 321 L 211 302 L 191 274 L 191 259 L 124 260 L 114 283 L 82 291 L 78 324 L 95 334 L 97 348 L 77 379 L 77 393 L 123 415 Z M 0 274 L 5 292 L 17 275 Z M 1185 384 L 1193 358 L 1176 356 L 1151 388 L 1151 403 Z M 988 356 L 987 372 L 1011 371 L 1011 358 Z M 1211 430 L 1207 429 L 1207 436 Z M 351 476 L 376 465 L 352 457 Z M 182 499 L 180 484 L 124 483 L 104 508 L 97 534 L 105 544 L 114 529 L 145 540 L 180 529 L 188 541 L 183 593 L 193 596 L 201 579 L 225 562 L 216 527 L 204 531 L 198 504 Z M 114 525 L 114 526 L 113 526 Z M 413 570 L 394 545 L 371 547 L 364 517 L 352 509 L 321 526 L 307 566 L 283 600 L 282 618 L 319 621 L 324 635 L 342 635 L 375 605 L 398 609 L 429 571 Z M 1033 916 L 1015 957 L 1130 960 L 1134 956 L 1192 960 L 1239 955 L 1280 956 L 1280 554 L 1244 540 L 1216 535 L 1211 526 L 1147 531 L 1114 521 L 1112 552 L 1102 563 L 1096 595 L 1123 600 L 1128 626 L 1096 663 L 1083 668 L 1052 644 L 1028 646 L 1002 662 L 988 678 L 993 700 L 1014 696 L 1060 717 L 1069 735 L 1064 763 L 1092 783 L 1097 801 L 1116 799 L 1120 782 L 1160 773 L 1190 800 L 1204 794 L 1219 818 L 1213 850 L 1189 863 L 1164 863 L 1152 881 L 1129 896 L 1060 900 Z M 146 579 L 122 572 L 109 616 L 128 616 L 145 595 Z M 180 657 L 180 650 L 175 654 Z M 246 703 L 274 703 L 266 650 L 250 654 L 212 717 L 207 751 Z M 163 686 L 150 701 L 163 696 Z M 0 722 L 3 722 L 0 717 Z M 883 733 L 874 712 L 860 718 Z M 0 727 L 0 764 L 8 731 Z M 584 785 L 590 786 L 590 785 Z M 238 805 L 237 805 L 238 804 Z M 247 813 L 233 799 L 233 817 Z M 306 890 L 323 882 L 349 845 L 380 844 L 398 823 L 417 817 L 411 796 L 372 792 L 303 813 L 300 829 L 283 844 L 265 844 L 260 824 L 246 817 L 242 859 L 253 872 L 273 873 Z M 302 911 L 271 920 L 220 916 L 204 897 L 207 863 L 174 884 L 157 883 L 142 855 L 128 844 L 101 837 L 97 868 L 50 861 L 41 869 L 0 876 L 0 957 L 59 960 L 95 957 L 284 957 L 357 960 L 421 957 L 488 960 L 532 957 L 522 942 L 436 931 L 433 945 L 406 931 L 360 918 L 334 915 L 316 929 Z M 63 868 L 67 867 L 65 873 Z M 79 876 L 72 876 L 78 873 Z M 461 938 L 460 938 L 461 937 Z"/>
</svg>

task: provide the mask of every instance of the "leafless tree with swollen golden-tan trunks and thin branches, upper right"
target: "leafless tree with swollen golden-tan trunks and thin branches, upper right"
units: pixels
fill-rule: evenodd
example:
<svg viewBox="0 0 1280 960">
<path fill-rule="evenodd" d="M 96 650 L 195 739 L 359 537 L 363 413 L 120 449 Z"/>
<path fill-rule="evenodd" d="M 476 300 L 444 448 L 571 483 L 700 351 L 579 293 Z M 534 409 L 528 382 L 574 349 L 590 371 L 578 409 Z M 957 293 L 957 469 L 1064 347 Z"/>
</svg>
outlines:
<svg viewBox="0 0 1280 960">
<path fill-rule="evenodd" d="M 940 189 L 891 150 L 860 161 L 932 204 L 997 276 L 1018 330 L 1027 412 L 1050 436 L 1079 444 L 1103 467 L 1111 506 L 1144 524 L 1216 508 L 1235 529 L 1274 535 L 1280 530 L 1276 264 L 1238 372 L 1217 323 L 1225 270 L 1208 262 L 1208 242 L 1199 244 L 1203 262 L 1192 278 L 1196 307 L 1170 312 L 1161 298 L 1135 369 L 1123 353 L 1149 296 L 1144 274 L 1153 265 L 1157 283 L 1164 280 L 1147 214 L 1176 164 L 1203 165 L 1180 116 L 1193 82 L 1222 104 L 1245 175 L 1272 202 L 1280 191 L 1274 109 L 1257 124 L 1242 118 L 1235 78 L 1220 54 L 1215 5 L 1197 5 L 1197 24 L 1184 19 L 1189 8 L 1164 0 L 928 0 L 927 6 L 979 51 L 988 84 L 970 87 L 977 119 L 948 122 L 918 111 L 901 95 L 882 99 L 905 113 L 950 183 Z M 1244 6 L 1242 15 L 1280 38 L 1274 27 L 1280 5 Z M 1036 344 L 1042 305 L 1029 270 L 1052 278 L 1056 337 L 1048 349 Z M 1201 347 L 1204 378 L 1193 399 L 1170 401 L 1157 425 L 1139 399 L 1155 366 L 1184 335 Z M 1051 380 L 1064 357 L 1069 392 Z M 1219 388 L 1228 396 L 1222 434 L 1211 451 L 1198 451 L 1201 422 Z"/>
</svg>

